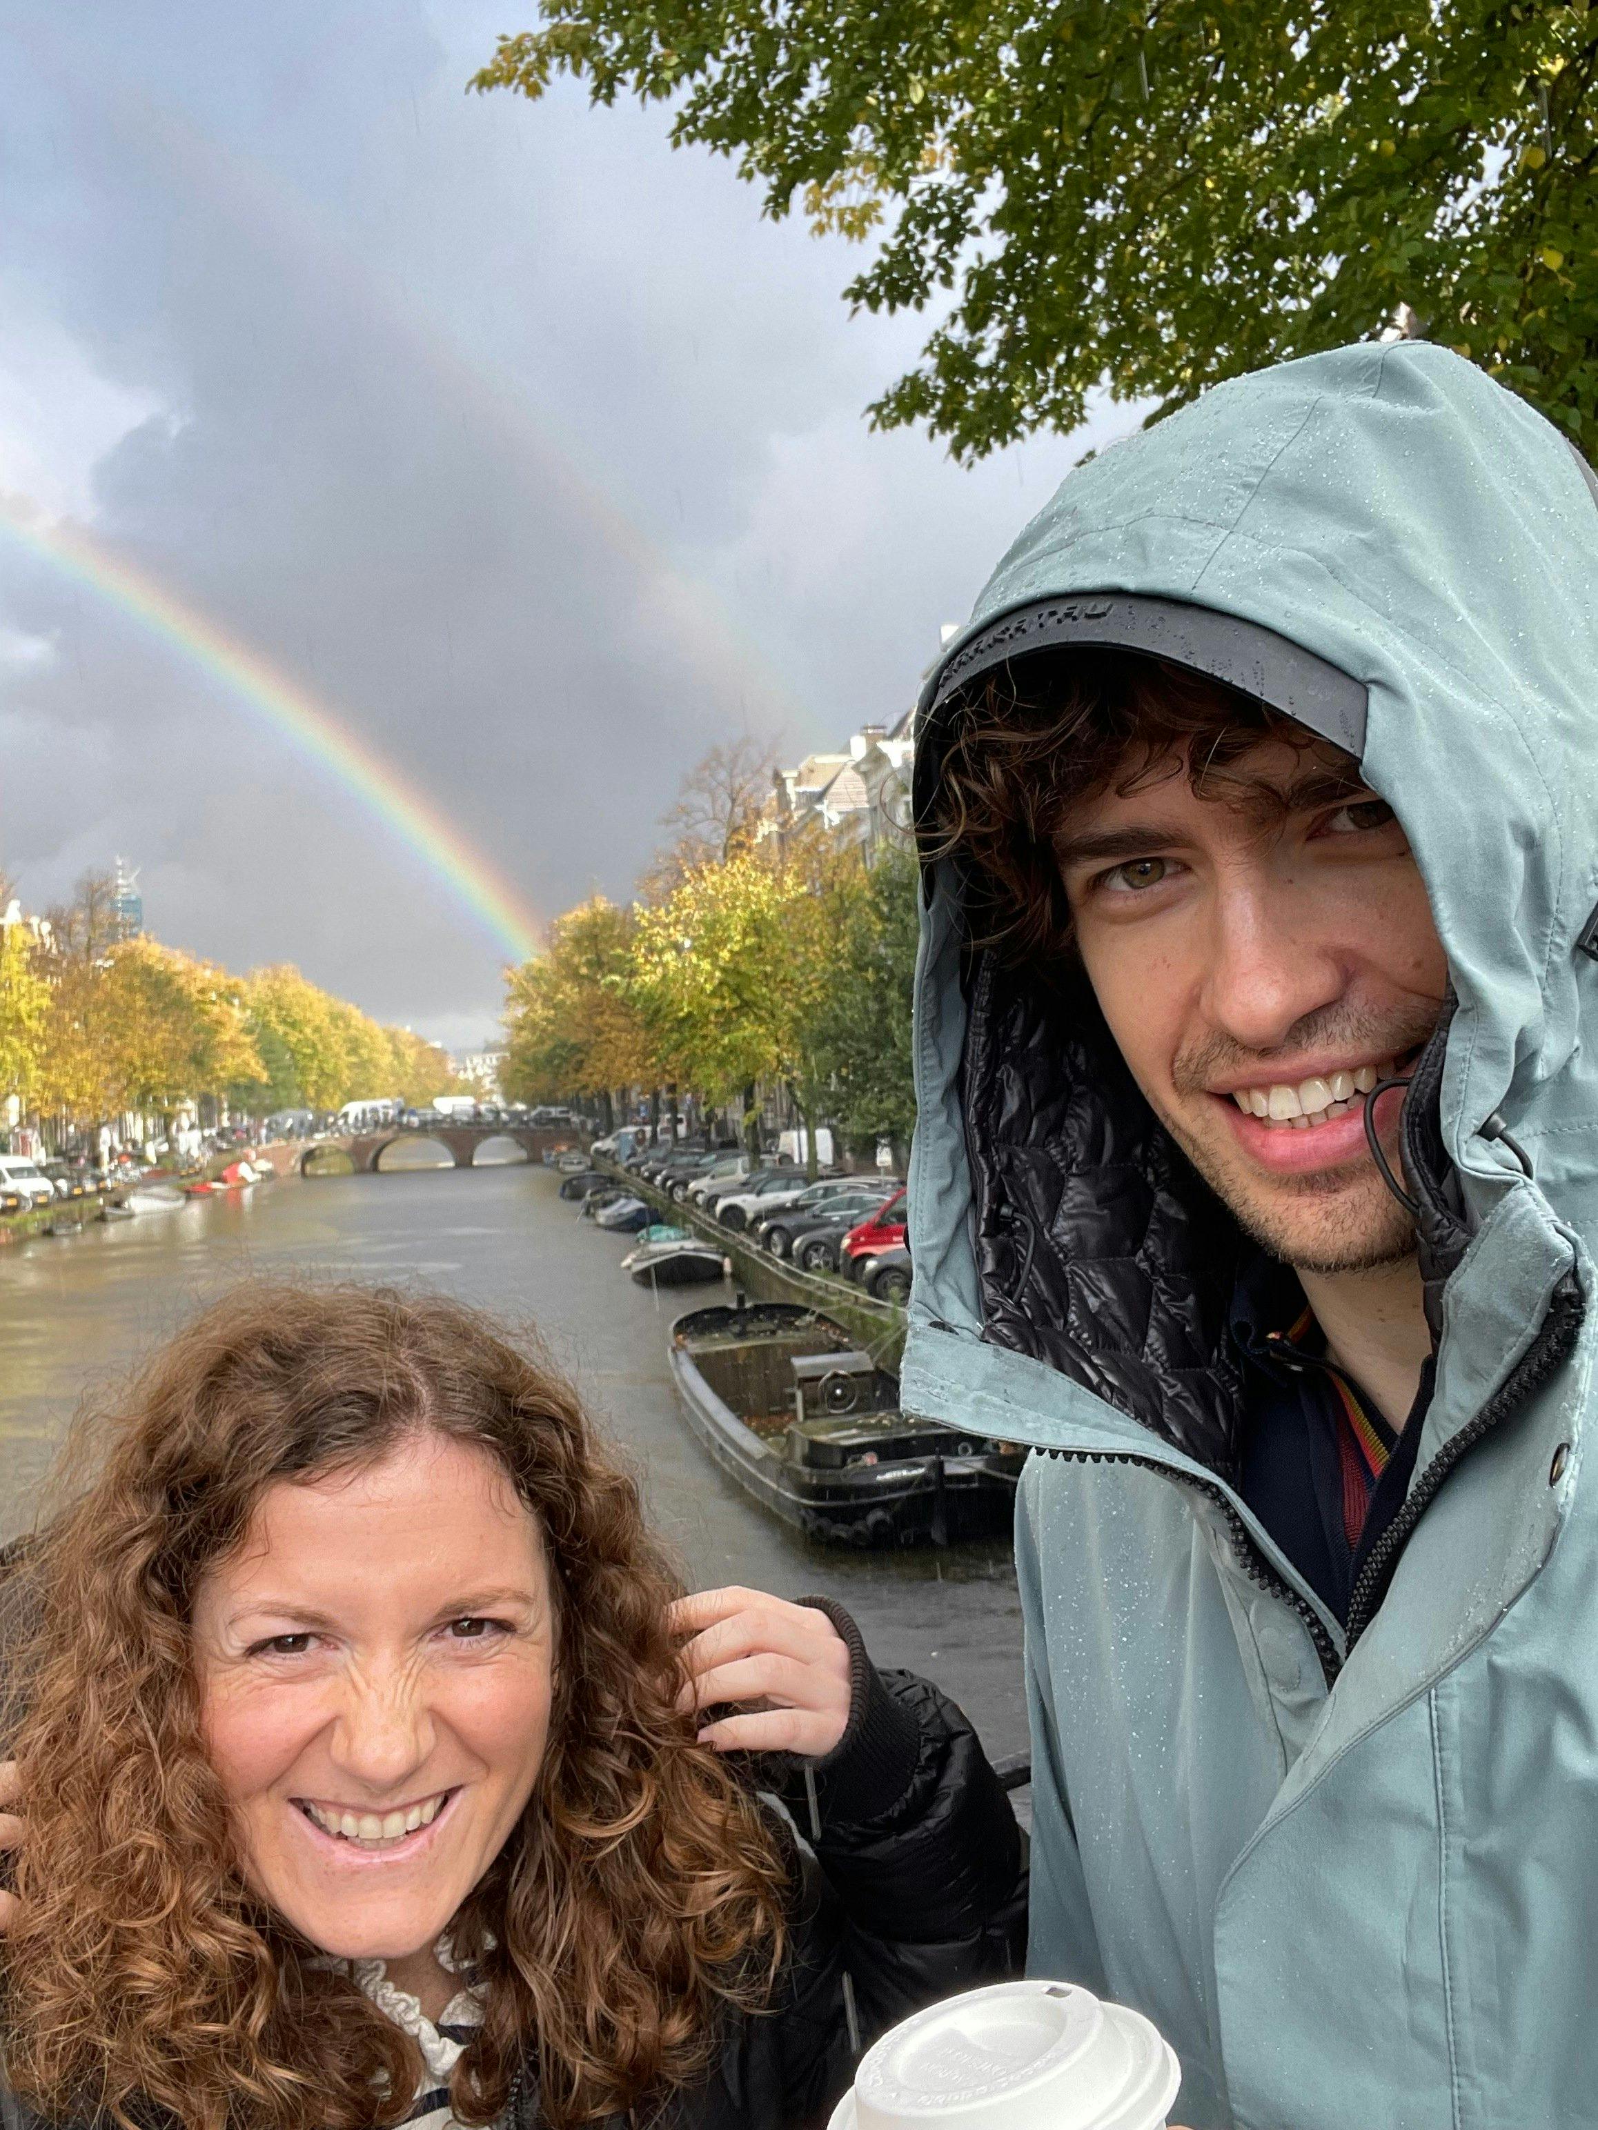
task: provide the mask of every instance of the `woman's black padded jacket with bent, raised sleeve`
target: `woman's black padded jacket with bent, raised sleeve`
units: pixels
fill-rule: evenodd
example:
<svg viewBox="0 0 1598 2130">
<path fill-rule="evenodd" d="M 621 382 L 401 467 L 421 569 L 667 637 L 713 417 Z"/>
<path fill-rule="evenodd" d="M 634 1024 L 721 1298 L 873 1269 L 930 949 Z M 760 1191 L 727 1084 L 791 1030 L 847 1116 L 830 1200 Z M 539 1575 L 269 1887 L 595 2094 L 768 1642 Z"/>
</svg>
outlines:
<svg viewBox="0 0 1598 2130">
<path fill-rule="evenodd" d="M 767 2011 L 733 2017 L 707 2079 L 665 2111 L 669 2130 L 810 2130 L 861 2047 L 920 2004 L 1021 1975 L 1027 1845 L 961 1710 L 910 1672 L 878 1672 L 854 1621 L 844 1738 L 812 1762 L 752 1766 L 795 1819 L 790 1949 Z M 814 1787 L 814 1815 L 810 1789 Z M 537 2060 L 516 2083 L 509 2130 L 537 2130 Z M 0 2087 L 0 2130 L 49 2130 Z"/>
</svg>

